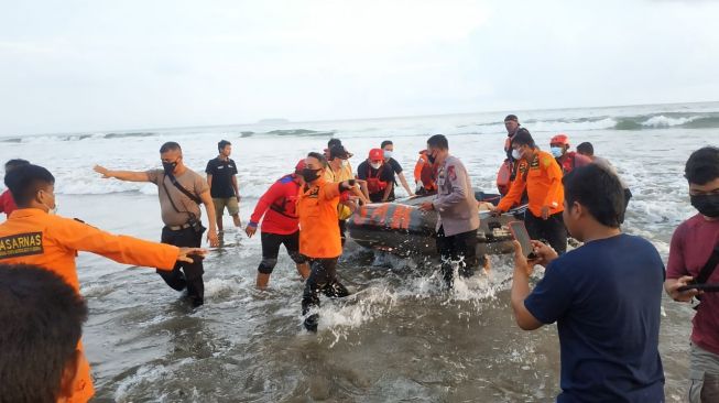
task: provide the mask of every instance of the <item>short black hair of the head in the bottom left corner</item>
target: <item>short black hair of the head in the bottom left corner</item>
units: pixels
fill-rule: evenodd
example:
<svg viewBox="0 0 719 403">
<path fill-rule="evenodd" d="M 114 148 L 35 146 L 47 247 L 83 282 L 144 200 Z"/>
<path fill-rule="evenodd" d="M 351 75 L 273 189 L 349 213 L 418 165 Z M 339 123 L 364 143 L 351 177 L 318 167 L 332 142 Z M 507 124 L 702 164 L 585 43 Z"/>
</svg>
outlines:
<svg viewBox="0 0 719 403">
<path fill-rule="evenodd" d="M 0 264 L 0 402 L 56 402 L 86 319 L 85 301 L 59 275 Z"/>
</svg>

